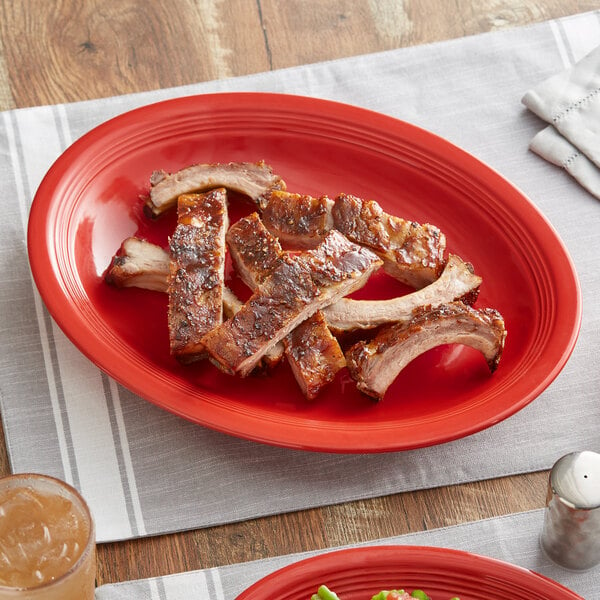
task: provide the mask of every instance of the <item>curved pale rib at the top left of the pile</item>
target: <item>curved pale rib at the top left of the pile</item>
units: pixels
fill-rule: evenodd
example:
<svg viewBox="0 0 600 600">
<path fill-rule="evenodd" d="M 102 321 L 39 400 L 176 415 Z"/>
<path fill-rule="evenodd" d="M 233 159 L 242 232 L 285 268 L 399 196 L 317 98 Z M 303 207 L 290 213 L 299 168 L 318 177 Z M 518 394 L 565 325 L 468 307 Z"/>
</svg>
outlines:
<svg viewBox="0 0 600 600">
<path fill-rule="evenodd" d="M 245 194 L 260 205 L 263 196 L 271 190 L 285 189 L 285 182 L 264 161 L 197 164 L 173 174 L 154 171 L 146 212 L 157 217 L 174 206 L 181 194 L 220 187 Z"/>
</svg>

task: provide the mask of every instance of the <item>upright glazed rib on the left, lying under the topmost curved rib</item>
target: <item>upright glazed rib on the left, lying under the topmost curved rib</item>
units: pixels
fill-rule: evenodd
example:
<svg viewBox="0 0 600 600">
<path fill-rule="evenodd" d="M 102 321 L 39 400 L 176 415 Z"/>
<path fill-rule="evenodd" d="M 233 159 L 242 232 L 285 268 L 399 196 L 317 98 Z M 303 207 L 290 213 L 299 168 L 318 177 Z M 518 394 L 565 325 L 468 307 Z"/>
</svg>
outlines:
<svg viewBox="0 0 600 600">
<path fill-rule="evenodd" d="M 181 362 L 204 356 L 201 339 L 223 321 L 227 192 L 183 194 L 169 248 L 169 339 Z"/>
</svg>

